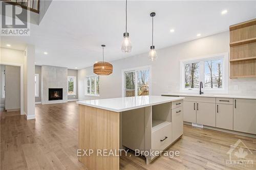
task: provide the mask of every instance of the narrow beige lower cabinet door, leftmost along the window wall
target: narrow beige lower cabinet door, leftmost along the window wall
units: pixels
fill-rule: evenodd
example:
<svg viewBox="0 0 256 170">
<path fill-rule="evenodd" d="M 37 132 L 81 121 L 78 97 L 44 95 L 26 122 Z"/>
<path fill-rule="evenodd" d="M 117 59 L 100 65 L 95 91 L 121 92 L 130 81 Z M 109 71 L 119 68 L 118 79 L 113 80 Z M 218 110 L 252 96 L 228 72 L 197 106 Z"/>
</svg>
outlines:
<svg viewBox="0 0 256 170">
<path fill-rule="evenodd" d="M 184 121 L 197 123 L 197 110 L 196 110 L 197 102 L 184 101 L 183 102 L 183 114 Z"/>
</svg>

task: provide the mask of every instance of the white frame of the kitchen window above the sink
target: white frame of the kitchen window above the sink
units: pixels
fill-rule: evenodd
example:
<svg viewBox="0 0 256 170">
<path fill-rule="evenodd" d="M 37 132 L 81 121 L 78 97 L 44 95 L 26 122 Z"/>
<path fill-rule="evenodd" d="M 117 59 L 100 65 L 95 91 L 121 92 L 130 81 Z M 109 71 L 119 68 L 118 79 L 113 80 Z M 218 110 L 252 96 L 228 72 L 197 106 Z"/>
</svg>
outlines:
<svg viewBox="0 0 256 170">
<path fill-rule="evenodd" d="M 196 93 L 199 88 L 185 88 L 185 64 L 199 62 L 199 81 L 203 83 L 203 91 L 208 93 L 228 93 L 229 62 L 228 53 L 214 54 L 210 56 L 197 57 L 180 60 L 180 92 Z M 222 88 L 204 88 L 205 61 L 222 59 Z"/>
</svg>

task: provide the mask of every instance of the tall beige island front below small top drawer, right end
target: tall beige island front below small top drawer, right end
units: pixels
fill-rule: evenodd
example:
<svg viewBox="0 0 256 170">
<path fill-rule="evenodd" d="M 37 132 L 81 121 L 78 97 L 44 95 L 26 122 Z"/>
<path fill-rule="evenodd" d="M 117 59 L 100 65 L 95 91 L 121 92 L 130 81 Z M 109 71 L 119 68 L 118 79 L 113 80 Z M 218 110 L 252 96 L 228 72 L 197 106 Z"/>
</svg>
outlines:
<svg viewBox="0 0 256 170">
<path fill-rule="evenodd" d="M 183 107 L 172 109 L 172 141 L 183 134 Z"/>
</svg>

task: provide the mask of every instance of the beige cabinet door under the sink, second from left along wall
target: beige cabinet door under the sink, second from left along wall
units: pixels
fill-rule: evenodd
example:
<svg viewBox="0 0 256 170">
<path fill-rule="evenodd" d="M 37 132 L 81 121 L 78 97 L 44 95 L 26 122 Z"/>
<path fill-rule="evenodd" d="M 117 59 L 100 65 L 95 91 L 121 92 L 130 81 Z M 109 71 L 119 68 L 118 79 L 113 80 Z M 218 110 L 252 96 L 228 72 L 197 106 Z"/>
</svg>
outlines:
<svg viewBox="0 0 256 170">
<path fill-rule="evenodd" d="M 197 102 L 197 124 L 216 126 L 216 104 Z"/>
</svg>

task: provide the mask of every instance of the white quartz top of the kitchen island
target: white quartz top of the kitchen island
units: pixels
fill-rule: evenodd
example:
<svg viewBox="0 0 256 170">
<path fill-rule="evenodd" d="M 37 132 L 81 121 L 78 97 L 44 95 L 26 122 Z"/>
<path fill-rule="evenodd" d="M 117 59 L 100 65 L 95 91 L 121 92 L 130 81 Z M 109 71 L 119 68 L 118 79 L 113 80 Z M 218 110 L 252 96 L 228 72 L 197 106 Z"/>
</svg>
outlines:
<svg viewBox="0 0 256 170">
<path fill-rule="evenodd" d="M 91 106 L 99 109 L 122 112 L 183 99 L 184 98 L 180 97 L 144 95 L 127 98 L 78 101 L 77 103 L 80 105 Z"/>
</svg>

